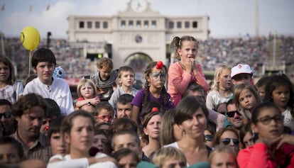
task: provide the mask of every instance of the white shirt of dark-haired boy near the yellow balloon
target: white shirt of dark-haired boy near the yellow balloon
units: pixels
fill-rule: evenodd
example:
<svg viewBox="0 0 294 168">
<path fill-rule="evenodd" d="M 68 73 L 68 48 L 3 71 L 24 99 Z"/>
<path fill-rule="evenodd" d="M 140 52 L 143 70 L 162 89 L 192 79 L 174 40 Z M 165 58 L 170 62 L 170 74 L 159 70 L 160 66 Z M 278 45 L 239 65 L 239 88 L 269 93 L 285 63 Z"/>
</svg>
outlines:
<svg viewBox="0 0 294 168">
<path fill-rule="evenodd" d="M 68 86 L 65 79 L 53 77 L 51 86 L 48 86 L 40 82 L 40 79 L 37 77 L 28 82 L 23 90 L 23 95 L 30 93 L 39 94 L 43 98 L 53 99 L 58 104 L 63 115 L 74 111 L 70 86 Z"/>
</svg>

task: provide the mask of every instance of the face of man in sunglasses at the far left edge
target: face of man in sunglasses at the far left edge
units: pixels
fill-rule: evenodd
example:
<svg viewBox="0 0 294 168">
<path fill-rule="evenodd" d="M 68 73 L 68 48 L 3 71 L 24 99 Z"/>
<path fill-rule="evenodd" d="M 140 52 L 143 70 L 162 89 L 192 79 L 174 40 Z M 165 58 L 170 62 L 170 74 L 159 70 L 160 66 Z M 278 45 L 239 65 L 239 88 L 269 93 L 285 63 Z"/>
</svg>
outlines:
<svg viewBox="0 0 294 168">
<path fill-rule="evenodd" d="M 0 121 L 4 126 L 6 132 L 13 129 L 13 117 L 11 115 L 11 106 L 2 105 L 0 106 Z"/>
</svg>

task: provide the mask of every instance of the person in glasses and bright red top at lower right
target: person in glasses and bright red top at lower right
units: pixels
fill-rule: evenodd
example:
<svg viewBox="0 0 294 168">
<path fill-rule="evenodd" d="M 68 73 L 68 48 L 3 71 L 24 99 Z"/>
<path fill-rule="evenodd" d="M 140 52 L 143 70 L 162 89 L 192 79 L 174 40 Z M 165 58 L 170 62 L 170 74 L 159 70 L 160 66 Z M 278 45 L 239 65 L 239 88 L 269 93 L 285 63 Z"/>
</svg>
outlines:
<svg viewBox="0 0 294 168">
<path fill-rule="evenodd" d="M 239 151 L 240 168 L 293 167 L 294 136 L 283 134 L 283 116 L 276 105 L 265 102 L 256 106 L 251 128 L 255 143 Z"/>
</svg>

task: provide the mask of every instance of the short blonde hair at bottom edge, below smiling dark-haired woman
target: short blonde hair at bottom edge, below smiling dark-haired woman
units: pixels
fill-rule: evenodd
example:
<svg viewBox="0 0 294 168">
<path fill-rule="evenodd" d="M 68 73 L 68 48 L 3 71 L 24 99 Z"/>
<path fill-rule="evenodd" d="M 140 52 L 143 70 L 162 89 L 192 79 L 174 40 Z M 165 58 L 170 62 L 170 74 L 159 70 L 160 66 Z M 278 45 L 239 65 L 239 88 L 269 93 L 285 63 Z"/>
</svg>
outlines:
<svg viewBox="0 0 294 168">
<path fill-rule="evenodd" d="M 162 167 L 169 159 L 178 159 L 187 162 L 184 153 L 175 147 L 162 147 L 160 150 L 157 150 L 153 154 L 152 162 L 158 167 Z"/>
</svg>

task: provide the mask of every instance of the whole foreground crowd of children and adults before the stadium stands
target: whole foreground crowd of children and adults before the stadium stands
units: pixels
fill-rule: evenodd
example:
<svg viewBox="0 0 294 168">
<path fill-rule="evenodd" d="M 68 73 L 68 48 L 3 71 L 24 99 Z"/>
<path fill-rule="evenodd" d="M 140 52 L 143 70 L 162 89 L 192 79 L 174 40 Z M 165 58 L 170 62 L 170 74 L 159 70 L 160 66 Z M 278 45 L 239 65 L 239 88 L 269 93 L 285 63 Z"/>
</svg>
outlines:
<svg viewBox="0 0 294 168">
<path fill-rule="evenodd" d="M 80 80 L 77 100 L 54 73 L 58 48 L 32 53 L 36 75 L 26 84 L 1 56 L 0 166 L 293 167 L 290 79 L 275 74 L 253 82 L 242 60 L 217 66 L 209 86 L 196 62 L 201 45 L 192 36 L 173 38 L 178 61 L 151 62 L 139 90 L 132 67 L 114 69 L 103 57 L 97 73 Z"/>
</svg>

